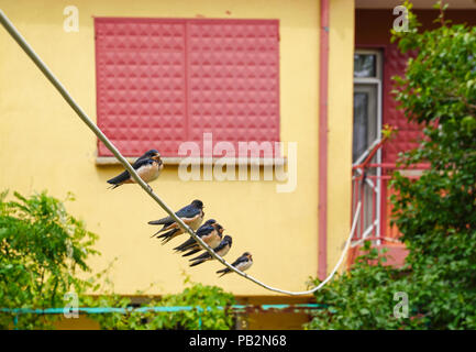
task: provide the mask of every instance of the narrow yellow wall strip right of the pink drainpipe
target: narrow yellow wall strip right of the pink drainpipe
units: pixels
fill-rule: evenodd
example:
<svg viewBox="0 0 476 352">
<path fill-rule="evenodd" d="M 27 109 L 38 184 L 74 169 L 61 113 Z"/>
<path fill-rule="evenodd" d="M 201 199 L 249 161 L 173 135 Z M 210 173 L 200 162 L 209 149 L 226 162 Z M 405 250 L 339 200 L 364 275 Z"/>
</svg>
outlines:
<svg viewBox="0 0 476 352">
<path fill-rule="evenodd" d="M 328 272 L 339 261 L 351 230 L 354 87 L 354 1 L 330 2 Z"/>
</svg>

